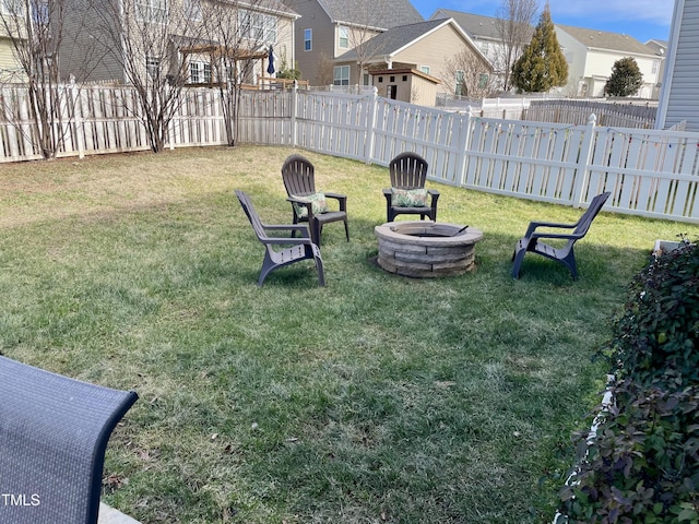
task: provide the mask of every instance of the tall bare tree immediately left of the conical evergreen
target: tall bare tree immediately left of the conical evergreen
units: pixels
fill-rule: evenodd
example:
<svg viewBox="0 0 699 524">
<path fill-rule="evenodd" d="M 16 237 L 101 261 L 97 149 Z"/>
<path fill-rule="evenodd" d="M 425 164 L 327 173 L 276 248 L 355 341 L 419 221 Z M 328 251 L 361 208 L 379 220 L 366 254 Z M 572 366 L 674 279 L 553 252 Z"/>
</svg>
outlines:
<svg viewBox="0 0 699 524">
<path fill-rule="evenodd" d="M 495 26 L 500 41 L 496 69 L 502 74 L 502 90 L 510 91 L 512 66 L 532 39 L 538 12 L 536 0 L 501 0 Z"/>
</svg>

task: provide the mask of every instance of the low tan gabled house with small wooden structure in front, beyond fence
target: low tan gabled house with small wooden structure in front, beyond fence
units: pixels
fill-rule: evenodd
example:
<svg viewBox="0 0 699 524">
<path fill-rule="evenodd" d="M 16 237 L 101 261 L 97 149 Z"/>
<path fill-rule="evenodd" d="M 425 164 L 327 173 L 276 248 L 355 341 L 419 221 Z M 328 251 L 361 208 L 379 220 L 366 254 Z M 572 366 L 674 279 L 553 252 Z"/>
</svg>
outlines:
<svg viewBox="0 0 699 524">
<path fill-rule="evenodd" d="M 493 72 L 489 61 L 453 19 L 393 27 L 339 57 L 335 68 L 344 68 L 350 74 L 364 46 L 371 49 L 366 67 L 379 94 L 423 106 L 434 106 L 439 92 L 453 94 L 459 90 L 460 80 L 450 72 L 449 62 L 453 64 L 462 50 L 479 64 L 483 82 L 487 83 Z"/>
</svg>

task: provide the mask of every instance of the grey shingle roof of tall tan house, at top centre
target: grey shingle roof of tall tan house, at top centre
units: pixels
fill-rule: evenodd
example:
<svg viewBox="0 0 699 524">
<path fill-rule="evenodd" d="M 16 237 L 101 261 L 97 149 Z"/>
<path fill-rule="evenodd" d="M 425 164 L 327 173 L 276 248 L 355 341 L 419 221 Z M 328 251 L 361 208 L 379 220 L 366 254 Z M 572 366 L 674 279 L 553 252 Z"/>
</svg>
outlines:
<svg viewBox="0 0 699 524">
<path fill-rule="evenodd" d="M 360 8 L 347 0 L 318 0 L 333 22 L 346 25 L 391 28 L 423 22 L 410 0 L 367 0 Z"/>
</svg>

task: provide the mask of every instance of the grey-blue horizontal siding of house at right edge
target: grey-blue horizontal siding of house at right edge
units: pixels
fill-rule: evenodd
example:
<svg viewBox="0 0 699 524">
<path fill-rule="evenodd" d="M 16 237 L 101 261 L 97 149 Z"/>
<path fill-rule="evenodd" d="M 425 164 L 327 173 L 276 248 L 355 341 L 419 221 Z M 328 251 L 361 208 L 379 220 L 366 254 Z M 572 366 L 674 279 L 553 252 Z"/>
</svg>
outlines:
<svg viewBox="0 0 699 524">
<path fill-rule="evenodd" d="M 699 0 L 675 0 L 674 13 L 655 128 L 699 131 Z"/>
</svg>

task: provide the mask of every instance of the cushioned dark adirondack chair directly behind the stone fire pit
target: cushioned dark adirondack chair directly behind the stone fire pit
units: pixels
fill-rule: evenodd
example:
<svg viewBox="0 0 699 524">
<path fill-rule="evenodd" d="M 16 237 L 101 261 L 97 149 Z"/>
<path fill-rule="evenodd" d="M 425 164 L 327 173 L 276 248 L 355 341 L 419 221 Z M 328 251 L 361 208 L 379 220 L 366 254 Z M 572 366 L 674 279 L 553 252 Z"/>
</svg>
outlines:
<svg viewBox="0 0 699 524">
<path fill-rule="evenodd" d="M 425 206 L 398 205 L 394 193 L 398 191 L 424 190 L 427 179 L 427 162 L 416 153 L 401 153 L 389 164 L 391 187 L 383 190 L 386 196 L 386 221 L 393 222 L 398 215 L 419 215 L 419 219 L 429 217 L 437 222 L 437 200 L 439 191 L 427 190 L 429 202 Z"/>
</svg>

